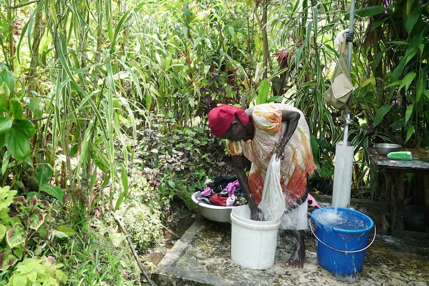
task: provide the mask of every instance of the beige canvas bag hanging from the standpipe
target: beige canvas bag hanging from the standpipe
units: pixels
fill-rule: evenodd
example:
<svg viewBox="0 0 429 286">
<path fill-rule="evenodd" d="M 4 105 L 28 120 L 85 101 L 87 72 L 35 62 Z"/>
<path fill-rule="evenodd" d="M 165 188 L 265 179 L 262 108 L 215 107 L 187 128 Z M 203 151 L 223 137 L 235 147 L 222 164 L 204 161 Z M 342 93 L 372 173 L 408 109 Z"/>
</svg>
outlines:
<svg viewBox="0 0 429 286">
<path fill-rule="evenodd" d="M 344 34 L 344 40 L 338 48 L 339 58 L 330 79 L 330 87 L 322 95 L 327 103 L 338 110 L 347 108 L 353 100 L 345 37 Z"/>
</svg>

